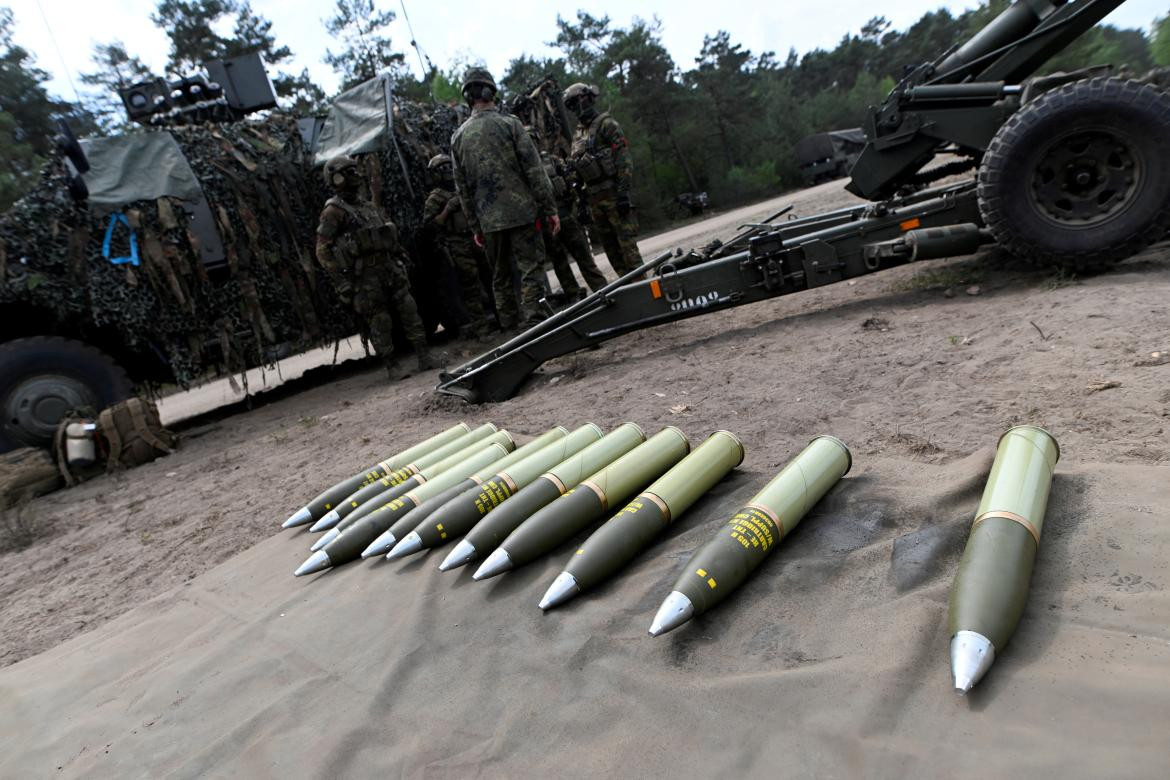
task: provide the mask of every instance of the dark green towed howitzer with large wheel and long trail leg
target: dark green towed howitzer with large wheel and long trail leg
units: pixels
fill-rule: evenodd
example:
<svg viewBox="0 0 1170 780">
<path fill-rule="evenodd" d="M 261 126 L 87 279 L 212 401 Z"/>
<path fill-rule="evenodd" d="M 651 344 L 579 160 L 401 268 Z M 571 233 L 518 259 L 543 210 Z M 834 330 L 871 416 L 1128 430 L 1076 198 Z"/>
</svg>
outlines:
<svg viewBox="0 0 1170 780">
<path fill-rule="evenodd" d="M 1082 271 L 1162 239 L 1170 227 L 1164 76 L 1127 78 L 1109 67 L 1035 76 L 1122 1 L 1007 6 L 965 43 L 911 68 L 869 110 L 846 187 L 869 202 L 663 253 L 440 374 L 438 392 L 503 400 L 545 360 L 622 333 L 989 242 Z M 941 154 L 951 161 L 940 164 Z"/>
</svg>

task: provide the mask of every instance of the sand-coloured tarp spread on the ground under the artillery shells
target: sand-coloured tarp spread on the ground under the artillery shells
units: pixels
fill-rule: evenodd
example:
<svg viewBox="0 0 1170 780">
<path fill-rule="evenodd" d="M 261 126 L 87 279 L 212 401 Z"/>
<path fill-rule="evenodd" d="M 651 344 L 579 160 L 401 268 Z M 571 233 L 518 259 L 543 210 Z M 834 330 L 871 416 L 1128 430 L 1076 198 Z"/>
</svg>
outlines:
<svg viewBox="0 0 1170 780">
<path fill-rule="evenodd" d="M 998 433 L 943 465 L 855 457 L 749 587 L 659 639 L 691 551 L 777 463 L 749 451 L 549 614 L 572 545 L 482 584 L 434 553 L 294 579 L 310 537 L 276 533 L 0 670 L 0 775 L 1165 776 L 1168 468 L 1066 448 L 1021 628 L 951 691 L 947 598 Z"/>
</svg>

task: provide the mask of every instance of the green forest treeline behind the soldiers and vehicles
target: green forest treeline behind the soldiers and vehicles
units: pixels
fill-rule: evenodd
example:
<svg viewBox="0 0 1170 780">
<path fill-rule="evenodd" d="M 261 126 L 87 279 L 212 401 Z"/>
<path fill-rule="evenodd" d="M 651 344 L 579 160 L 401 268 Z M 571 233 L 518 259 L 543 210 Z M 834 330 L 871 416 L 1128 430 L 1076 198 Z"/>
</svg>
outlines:
<svg viewBox="0 0 1170 780">
<path fill-rule="evenodd" d="M 879 103 L 907 67 L 936 58 L 1007 5 L 990 0 L 962 14 L 932 11 L 907 29 L 893 29 L 881 16 L 858 20 L 856 32 L 842 35 L 833 49 L 804 55 L 751 51 L 715 30 L 704 36 L 694 62 L 675 62 L 663 46 L 668 19 L 620 26 L 608 16 L 578 12 L 573 19 L 557 18 L 556 40 L 548 42 L 556 56 L 521 56 L 496 76 L 504 98 L 548 75 L 562 85 L 597 84 L 601 106 L 631 139 L 635 202 L 644 227 L 652 227 L 669 219 L 681 193 L 704 191 L 713 205 L 728 207 L 797 186 L 792 149 L 798 140 L 858 126 L 866 108 Z M 144 77 L 174 77 L 205 60 L 260 51 L 283 109 L 309 115 L 328 105 L 330 96 L 307 70 L 287 70 L 292 51 L 246 1 L 159 0 L 151 19 L 171 43 L 167 73 L 151 74 L 121 41 L 102 43 L 95 47 L 92 69 L 80 76 L 81 99 L 69 102 L 46 91 L 47 74 L 15 43 L 12 13 L 0 8 L 0 208 L 35 179 L 54 119 L 67 118 L 80 133 L 119 132 L 125 119 L 117 90 Z M 459 77 L 473 63 L 440 67 L 419 51 L 427 75 L 412 75 L 388 34 L 393 20 L 393 12 L 376 0 L 336 0 L 324 20 L 331 36 L 324 58 L 342 89 L 388 70 L 399 94 L 457 101 Z M 1044 70 L 1113 63 L 1144 73 L 1170 65 L 1170 15 L 1151 22 L 1149 34 L 1099 26 Z"/>
</svg>

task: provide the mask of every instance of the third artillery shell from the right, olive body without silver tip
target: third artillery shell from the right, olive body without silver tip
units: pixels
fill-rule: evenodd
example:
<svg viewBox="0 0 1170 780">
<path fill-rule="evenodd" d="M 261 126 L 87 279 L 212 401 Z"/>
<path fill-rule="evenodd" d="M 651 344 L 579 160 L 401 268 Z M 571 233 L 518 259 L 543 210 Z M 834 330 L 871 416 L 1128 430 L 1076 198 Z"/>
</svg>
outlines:
<svg viewBox="0 0 1170 780">
<path fill-rule="evenodd" d="M 581 591 L 607 580 L 742 462 L 739 440 L 716 430 L 594 531 L 565 571 Z"/>
</svg>

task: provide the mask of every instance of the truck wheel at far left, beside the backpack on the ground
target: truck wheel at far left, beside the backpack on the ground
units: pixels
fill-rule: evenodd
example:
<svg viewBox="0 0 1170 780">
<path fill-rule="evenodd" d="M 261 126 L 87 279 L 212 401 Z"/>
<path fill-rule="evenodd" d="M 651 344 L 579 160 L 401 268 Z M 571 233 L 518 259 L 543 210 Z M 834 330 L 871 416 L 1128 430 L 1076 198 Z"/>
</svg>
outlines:
<svg viewBox="0 0 1170 780">
<path fill-rule="evenodd" d="M 49 447 L 70 409 L 96 414 L 132 393 L 126 372 L 81 341 L 37 336 L 0 344 L 0 453 Z"/>
</svg>

